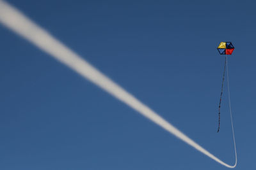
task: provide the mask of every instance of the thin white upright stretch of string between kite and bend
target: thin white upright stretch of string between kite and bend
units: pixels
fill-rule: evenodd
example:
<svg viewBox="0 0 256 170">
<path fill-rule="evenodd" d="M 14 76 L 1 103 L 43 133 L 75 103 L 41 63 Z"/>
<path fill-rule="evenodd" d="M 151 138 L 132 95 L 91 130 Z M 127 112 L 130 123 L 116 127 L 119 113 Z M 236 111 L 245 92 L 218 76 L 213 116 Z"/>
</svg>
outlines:
<svg viewBox="0 0 256 170">
<path fill-rule="evenodd" d="M 235 156 L 236 156 L 236 163 L 237 164 L 237 152 L 236 152 L 236 139 L 235 139 L 235 132 L 234 132 L 234 125 L 233 125 L 233 117 L 232 117 L 232 110 L 231 110 L 231 102 L 230 102 L 230 90 L 229 90 L 229 78 L 228 78 L 228 59 L 227 55 L 225 56 L 225 65 L 227 65 L 227 85 L 228 85 L 228 106 L 230 111 L 230 120 L 231 120 L 231 126 L 232 126 L 232 134 L 233 134 L 233 141 L 234 141 L 234 149 L 235 149 Z"/>
</svg>

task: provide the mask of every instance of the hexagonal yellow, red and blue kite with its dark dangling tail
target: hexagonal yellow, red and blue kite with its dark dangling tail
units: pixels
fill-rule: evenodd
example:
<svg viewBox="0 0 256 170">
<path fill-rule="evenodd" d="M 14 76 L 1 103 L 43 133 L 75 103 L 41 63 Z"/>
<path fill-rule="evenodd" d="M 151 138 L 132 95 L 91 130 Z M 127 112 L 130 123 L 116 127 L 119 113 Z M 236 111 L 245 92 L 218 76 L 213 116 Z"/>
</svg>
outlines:
<svg viewBox="0 0 256 170">
<path fill-rule="evenodd" d="M 224 85 L 225 71 L 226 71 L 226 65 L 227 65 L 227 55 L 231 55 L 235 48 L 231 42 L 221 42 L 217 49 L 220 52 L 220 55 L 225 55 L 225 64 L 224 64 L 221 93 L 220 93 L 220 103 L 219 103 L 219 125 L 218 125 L 218 131 L 217 131 L 219 132 L 220 131 L 220 104 L 221 104 L 221 98 L 223 94 L 223 85 Z"/>
</svg>

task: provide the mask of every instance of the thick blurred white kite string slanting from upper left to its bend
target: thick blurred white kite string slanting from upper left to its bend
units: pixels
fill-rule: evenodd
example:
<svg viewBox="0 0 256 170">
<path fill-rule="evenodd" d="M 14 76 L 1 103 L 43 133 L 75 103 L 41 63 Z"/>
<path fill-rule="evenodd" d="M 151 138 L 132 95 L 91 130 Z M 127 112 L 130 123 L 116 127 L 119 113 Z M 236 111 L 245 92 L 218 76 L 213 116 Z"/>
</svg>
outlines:
<svg viewBox="0 0 256 170">
<path fill-rule="evenodd" d="M 0 23 L 8 27 L 8 29 L 11 29 L 16 34 L 19 34 L 23 38 L 27 39 L 33 45 L 54 57 L 54 59 L 59 60 L 61 63 L 70 67 L 70 69 L 76 71 L 84 78 L 92 81 L 92 83 L 100 87 L 100 89 L 105 90 L 111 96 L 116 97 L 116 99 L 138 111 L 138 113 L 144 117 L 147 117 L 149 120 L 170 132 L 180 140 L 192 146 L 199 152 L 204 153 L 207 155 L 207 157 L 219 162 L 223 166 L 230 168 L 236 167 L 237 155 L 236 162 L 233 166 L 228 165 L 227 163 L 218 159 L 212 155 L 212 153 L 208 152 L 205 150 L 205 148 L 198 145 L 195 141 L 186 136 L 186 134 L 179 131 L 179 129 L 164 120 L 164 118 L 160 117 L 155 111 L 141 103 L 141 101 L 136 99 L 136 97 L 132 96 L 132 94 L 120 87 L 113 80 L 108 78 L 108 76 L 104 75 L 86 60 L 82 59 L 82 57 L 77 55 L 77 53 L 73 52 L 70 50 L 70 48 L 58 41 L 58 39 L 51 36 L 49 32 L 42 29 L 42 27 L 39 25 L 36 25 L 35 22 L 30 20 L 19 10 L 2 0 L 0 0 Z"/>
</svg>

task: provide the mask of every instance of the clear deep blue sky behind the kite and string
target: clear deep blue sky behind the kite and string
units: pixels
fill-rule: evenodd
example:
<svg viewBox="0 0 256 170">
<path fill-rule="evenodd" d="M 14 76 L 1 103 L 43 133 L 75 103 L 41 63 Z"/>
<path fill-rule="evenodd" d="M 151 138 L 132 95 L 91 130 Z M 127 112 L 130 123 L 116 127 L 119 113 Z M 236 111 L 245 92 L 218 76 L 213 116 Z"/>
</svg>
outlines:
<svg viewBox="0 0 256 170">
<path fill-rule="evenodd" d="M 9 0 L 228 164 L 256 168 L 254 1 Z M 0 169 L 227 169 L 0 25 Z"/>
</svg>

